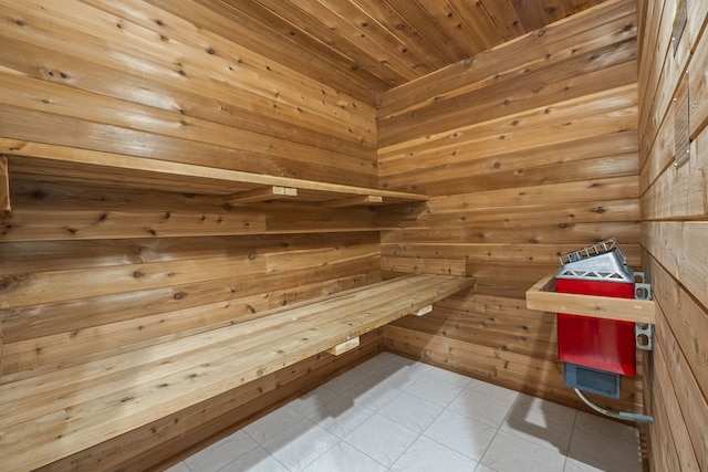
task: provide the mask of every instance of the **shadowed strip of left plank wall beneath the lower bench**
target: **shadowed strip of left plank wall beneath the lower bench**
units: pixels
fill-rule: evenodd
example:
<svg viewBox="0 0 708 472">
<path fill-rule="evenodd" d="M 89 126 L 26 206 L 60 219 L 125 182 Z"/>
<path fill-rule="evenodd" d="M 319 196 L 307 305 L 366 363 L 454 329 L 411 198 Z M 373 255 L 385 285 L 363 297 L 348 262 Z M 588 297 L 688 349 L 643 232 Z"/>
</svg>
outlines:
<svg viewBox="0 0 708 472">
<path fill-rule="evenodd" d="M 362 345 L 342 357 L 313 356 L 148 423 L 135 430 L 129 439 L 114 438 L 39 470 L 167 469 L 381 350 L 378 329 L 363 336 Z"/>
</svg>

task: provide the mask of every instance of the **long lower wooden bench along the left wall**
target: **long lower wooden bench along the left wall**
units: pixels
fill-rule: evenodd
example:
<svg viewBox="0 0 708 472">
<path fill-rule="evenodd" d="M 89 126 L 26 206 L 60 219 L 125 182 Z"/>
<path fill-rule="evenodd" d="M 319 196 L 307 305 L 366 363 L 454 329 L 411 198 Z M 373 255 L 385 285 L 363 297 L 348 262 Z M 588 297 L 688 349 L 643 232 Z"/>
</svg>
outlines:
<svg viewBox="0 0 708 472">
<path fill-rule="evenodd" d="M 34 469 L 322 352 L 475 285 L 415 274 L 0 386 L 2 470 Z"/>
</svg>

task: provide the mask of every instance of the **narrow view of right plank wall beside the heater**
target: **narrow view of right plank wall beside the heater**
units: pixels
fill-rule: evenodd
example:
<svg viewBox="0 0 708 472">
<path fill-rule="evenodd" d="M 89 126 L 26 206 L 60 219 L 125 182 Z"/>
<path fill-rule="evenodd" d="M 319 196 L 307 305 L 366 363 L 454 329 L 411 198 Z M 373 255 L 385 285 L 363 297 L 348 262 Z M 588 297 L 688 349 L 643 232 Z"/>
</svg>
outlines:
<svg viewBox="0 0 708 472">
<path fill-rule="evenodd" d="M 645 386 L 655 471 L 708 470 L 708 3 L 685 2 L 686 29 L 673 41 L 680 3 L 639 2 L 642 255 L 658 308 Z M 693 143 L 677 168 L 673 98 L 685 80 Z"/>
</svg>

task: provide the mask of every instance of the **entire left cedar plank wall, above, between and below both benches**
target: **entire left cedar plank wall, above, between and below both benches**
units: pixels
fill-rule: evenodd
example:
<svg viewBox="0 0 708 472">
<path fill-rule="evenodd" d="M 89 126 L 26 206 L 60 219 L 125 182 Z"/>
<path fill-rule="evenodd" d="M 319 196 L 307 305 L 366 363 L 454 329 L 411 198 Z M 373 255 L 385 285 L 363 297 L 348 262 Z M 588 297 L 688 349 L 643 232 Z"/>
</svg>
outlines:
<svg viewBox="0 0 708 472">
<path fill-rule="evenodd" d="M 376 185 L 373 106 L 229 41 L 195 2 L 169 2 L 180 15 L 133 0 L 0 3 L 0 137 Z M 188 181 L 166 193 L 13 178 L 8 167 L 0 382 L 381 280 L 367 208 L 225 208 Z M 381 348 L 374 332 L 341 358 L 306 359 L 49 469 L 159 463 Z"/>
</svg>

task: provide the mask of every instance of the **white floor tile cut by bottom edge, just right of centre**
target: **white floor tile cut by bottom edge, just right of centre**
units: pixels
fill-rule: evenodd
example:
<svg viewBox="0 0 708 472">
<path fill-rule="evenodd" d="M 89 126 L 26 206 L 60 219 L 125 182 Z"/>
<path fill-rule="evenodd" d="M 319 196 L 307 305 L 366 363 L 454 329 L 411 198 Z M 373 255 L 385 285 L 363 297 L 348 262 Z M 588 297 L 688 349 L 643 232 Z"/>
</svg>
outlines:
<svg viewBox="0 0 708 472">
<path fill-rule="evenodd" d="M 394 472 L 473 471 L 477 462 L 421 436 L 391 468 Z"/>
</svg>

